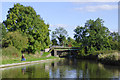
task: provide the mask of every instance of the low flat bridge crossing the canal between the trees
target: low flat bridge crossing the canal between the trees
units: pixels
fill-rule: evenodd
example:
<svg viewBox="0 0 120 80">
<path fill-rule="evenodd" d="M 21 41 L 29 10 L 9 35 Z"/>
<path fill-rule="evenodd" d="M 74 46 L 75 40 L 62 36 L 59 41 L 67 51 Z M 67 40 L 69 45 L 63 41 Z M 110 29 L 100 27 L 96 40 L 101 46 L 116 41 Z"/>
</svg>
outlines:
<svg viewBox="0 0 120 80">
<path fill-rule="evenodd" d="M 60 56 L 62 52 L 69 52 L 67 54 L 71 55 L 77 55 L 77 51 L 80 50 L 79 47 L 64 47 L 64 46 L 52 46 L 50 47 L 49 52 L 52 56 Z"/>
</svg>

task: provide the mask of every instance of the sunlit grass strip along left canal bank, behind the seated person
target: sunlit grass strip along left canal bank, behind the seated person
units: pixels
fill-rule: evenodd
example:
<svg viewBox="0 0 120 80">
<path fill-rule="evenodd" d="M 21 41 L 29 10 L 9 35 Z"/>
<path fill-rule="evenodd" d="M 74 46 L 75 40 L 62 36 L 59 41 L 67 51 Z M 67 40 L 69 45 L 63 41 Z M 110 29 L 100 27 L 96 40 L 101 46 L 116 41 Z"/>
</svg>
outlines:
<svg viewBox="0 0 120 80">
<path fill-rule="evenodd" d="M 2 55 L 2 64 L 12 64 L 12 63 L 21 63 L 21 62 L 29 62 L 29 61 L 38 61 L 38 60 L 46 60 L 46 59 L 55 59 L 57 57 L 49 56 L 50 53 L 43 53 L 43 55 L 37 54 L 24 54 L 26 61 L 21 61 L 21 55 L 17 56 L 4 56 Z"/>
</svg>

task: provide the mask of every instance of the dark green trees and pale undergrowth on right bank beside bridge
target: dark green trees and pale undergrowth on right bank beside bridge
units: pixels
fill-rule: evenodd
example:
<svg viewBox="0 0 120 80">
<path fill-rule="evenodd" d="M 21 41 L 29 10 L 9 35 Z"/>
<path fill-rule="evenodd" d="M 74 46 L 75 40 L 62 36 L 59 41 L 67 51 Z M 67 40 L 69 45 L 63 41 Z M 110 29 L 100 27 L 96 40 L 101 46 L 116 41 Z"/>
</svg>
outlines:
<svg viewBox="0 0 120 80">
<path fill-rule="evenodd" d="M 110 32 L 100 18 L 88 20 L 84 27 L 78 26 L 74 38 L 80 45 L 79 55 L 95 56 L 98 60 L 113 64 L 119 63 L 120 45 L 118 32 Z"/>
</svg>

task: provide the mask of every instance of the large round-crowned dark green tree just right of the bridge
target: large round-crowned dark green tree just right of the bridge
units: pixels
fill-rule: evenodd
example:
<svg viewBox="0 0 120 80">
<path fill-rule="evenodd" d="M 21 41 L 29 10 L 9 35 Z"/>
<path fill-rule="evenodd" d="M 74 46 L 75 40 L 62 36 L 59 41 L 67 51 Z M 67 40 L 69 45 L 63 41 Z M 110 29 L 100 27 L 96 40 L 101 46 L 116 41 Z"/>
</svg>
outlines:
<svg viewBox="0 0 120 80">
<path fill-rule="evenodd" d="M 84 27 L 78 26 L 74 31 L 74 38 L 80 47 L 85 48 L 86 53 L 94 50 L 111 49 L 108 39 L 109 29 L 103 25 L 104 21 L 100 18 L 88 20 Z"/>
</svg>

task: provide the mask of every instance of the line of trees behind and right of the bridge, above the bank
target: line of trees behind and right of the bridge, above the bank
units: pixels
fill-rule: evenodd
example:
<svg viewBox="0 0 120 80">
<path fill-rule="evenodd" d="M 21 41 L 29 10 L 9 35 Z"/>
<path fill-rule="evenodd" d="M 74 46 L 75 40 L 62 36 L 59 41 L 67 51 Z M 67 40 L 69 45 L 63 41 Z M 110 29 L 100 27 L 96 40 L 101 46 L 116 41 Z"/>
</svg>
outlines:
<svg viewBox="0 0 120 80">
<path fill-rule="evenodd" d="M 77 26 L 74 32 L 74 39 L 72 39 L 66 37 L 67 31 L 64 28 L 56 28 L 52 32 L 53 45 L 80 47 L 82 55 L 93 54 L 95 51 L 120 50 L 119 33 L 110 32 L 100 18 L 87 20 L 84 26 Z"/>
</svg>

